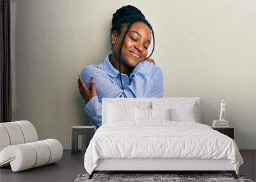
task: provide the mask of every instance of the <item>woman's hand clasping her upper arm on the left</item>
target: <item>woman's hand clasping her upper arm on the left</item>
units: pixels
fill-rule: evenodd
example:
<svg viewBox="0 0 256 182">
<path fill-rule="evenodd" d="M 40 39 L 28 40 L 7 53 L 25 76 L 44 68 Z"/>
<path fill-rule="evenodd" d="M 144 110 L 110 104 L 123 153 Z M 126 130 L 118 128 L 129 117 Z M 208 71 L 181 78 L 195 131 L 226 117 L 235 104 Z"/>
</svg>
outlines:
<svg viewBox="0 0 256 182">
<path fill-rule="evenodd" d="M 83 99 L 86 103 L 93 96 L 97 95 L 94 77 L 92 77 L 91 80 L 90 80 L 91 87 L 89 89 L 88 89 L 88 87 L 86 87 L 86 84 L 84 83 L 84 81 L 83 81 L 83 79 L 81 78 L 80 75 L 78 75 L 77 84 L 78 84 L 79 91 L 80 91 L 81 95 L 83 96 Z"/>
</svg>

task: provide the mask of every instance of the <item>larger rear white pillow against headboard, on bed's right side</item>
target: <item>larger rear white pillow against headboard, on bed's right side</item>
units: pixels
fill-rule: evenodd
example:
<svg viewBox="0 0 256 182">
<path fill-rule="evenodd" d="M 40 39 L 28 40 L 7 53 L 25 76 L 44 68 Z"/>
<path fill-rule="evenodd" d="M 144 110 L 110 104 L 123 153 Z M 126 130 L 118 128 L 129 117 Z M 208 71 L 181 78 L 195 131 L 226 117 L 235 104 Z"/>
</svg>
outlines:
<svg viewBox="0 0 256 182">
<path fill-rule="evenodd" d="M 198 107 L 195 102 L 152 102 L 154 109 L 171 109 L 172 121 L 198 121 Z"/>
</svg>

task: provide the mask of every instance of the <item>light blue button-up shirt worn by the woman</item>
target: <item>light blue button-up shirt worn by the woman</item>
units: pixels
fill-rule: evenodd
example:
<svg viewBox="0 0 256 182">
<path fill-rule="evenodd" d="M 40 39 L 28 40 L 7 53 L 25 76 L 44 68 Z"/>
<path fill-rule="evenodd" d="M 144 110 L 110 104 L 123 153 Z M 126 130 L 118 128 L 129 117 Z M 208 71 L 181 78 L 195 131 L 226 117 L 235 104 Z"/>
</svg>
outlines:
<svg viewBox="0 0 256 182">
<path fill-rule="evenodd" d="M 120 73 L 110 62 L 111 54 L 103 63 L 90 64 L 81 72 L 81 77 L 90 87 L 91 77 L 95 77 L 97 96 L 85 103 L 84 110 L 92 119 L 92 125 L 102 125 L 102 98 L 163 98 L 163 73 L 159 66 L 142 61 L 130 75 L 122 74 L 124 89 L 120 83 Z"/>
</svg>

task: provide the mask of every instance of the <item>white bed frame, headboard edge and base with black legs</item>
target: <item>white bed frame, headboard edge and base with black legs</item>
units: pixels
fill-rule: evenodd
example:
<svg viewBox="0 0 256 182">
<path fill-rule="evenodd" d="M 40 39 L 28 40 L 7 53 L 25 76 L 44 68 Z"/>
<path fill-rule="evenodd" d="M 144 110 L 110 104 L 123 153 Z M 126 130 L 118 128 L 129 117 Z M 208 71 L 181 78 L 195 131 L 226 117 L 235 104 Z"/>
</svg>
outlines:
<svg viewBox="0 0 256 182">
<path fill-rule="evenodd" d="M 198 123 L 201 122 L 202 102 L 200 98 L 125 98 L 125 102 L 196 102 L 198 104 Z M 107 104 L 111 102 L 124 102 L 124 98 L 104 98 L 102 100 L 102 125 L 106 123 Z M 164 158 L 108 158 L 100 159 L 89 179 L 93 174 L 100 171 L 147 171 L 150 173 L 162 173 L 170 171 L 226 171 L 237 179 L 236 171 L 230 160 L 213 159 L 164 159 Z"/>
</svg>

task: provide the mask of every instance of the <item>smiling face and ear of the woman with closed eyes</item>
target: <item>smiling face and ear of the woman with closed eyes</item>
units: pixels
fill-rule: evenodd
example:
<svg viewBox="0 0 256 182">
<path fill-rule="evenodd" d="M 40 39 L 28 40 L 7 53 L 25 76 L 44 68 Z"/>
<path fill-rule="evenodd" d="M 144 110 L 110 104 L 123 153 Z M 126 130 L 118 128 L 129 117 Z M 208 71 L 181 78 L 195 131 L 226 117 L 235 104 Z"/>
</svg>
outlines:
<svg viewBox="0 0 256 182">
<path fill-rule="evenodd" d="M 126 30 L 127 24 L 124 24 L 120 34 L 116 34 L 115 31 L 111 34 L 111 40 L 115 40 L 116 42 L 115 45 L 113 45 L 113 54 L 116 54 L 116 57 L 118 57 L 122 38 Z M 124 40 L 121 56 L 122 64 L 133 68 L 138 63 L 145 60 L 150 41 L 151 32 L 146 24 L 143 22 L 135 22 L 132 24 Z"/>
</svg>

